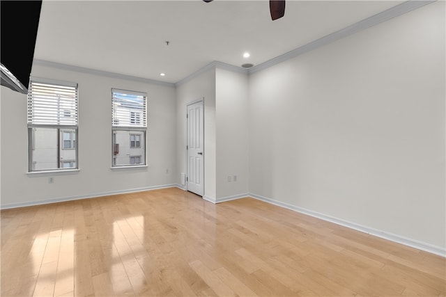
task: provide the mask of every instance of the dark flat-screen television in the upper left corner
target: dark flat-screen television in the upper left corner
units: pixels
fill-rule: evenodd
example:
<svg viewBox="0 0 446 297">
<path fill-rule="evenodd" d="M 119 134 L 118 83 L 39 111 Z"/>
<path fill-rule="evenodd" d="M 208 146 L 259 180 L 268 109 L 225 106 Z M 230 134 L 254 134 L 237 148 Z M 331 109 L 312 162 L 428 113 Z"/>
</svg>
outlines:
<svg viewBox="0 0 446 297">
<path fill-rule="evenodd" d="M 0 1 L 1 86 L 28 93 L 42 1 Z"/>
</svg>

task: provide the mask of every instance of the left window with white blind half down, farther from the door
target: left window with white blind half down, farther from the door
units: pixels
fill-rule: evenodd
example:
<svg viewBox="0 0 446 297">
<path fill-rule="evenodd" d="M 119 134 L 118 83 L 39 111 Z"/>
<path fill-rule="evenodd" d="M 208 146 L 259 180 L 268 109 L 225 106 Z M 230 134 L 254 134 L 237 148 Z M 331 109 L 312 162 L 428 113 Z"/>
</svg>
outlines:
<svg viewBox="0 0 446 297">
<path fill-rule="evenodd" d="M 77 102 L 77 83 L 31 78 L 29 172 L 77 168 Z"/>
</svg>

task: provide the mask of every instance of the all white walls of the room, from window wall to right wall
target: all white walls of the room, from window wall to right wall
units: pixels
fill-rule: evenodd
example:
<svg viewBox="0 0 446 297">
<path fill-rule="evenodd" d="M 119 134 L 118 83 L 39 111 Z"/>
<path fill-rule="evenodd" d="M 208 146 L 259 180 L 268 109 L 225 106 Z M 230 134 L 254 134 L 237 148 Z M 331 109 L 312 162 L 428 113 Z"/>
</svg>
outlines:
<svg viewBox="0 0 446 297">
<path fill-rule="evenodd" d="M 444 250 L 444 12 L 429 4 L 248 79 L 217 68 L 173 88 L 35 65 L 79 83 L 80 171 L 26 175 L 26 95 L 1 87 L 1 207 L 180 184 L 186 106 L 204 98 L 208 200 L 249 191 Z M 111 88 L 148 93 L 148 168 L 110 169 Z"/>
</svg>

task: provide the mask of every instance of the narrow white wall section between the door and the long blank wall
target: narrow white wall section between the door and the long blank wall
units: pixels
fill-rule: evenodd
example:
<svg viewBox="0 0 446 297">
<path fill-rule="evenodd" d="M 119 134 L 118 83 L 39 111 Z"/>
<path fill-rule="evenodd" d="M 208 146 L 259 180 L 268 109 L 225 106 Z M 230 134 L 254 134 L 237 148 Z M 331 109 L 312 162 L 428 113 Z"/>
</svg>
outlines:
<svg viewBox="0 0 446 297">
<path fill-rule="evenodd" d="M 217 200 L 222 200 L 249 191 L 248 78 L 219 68 L 215 78 L 216 184 Z"/>
</svg>

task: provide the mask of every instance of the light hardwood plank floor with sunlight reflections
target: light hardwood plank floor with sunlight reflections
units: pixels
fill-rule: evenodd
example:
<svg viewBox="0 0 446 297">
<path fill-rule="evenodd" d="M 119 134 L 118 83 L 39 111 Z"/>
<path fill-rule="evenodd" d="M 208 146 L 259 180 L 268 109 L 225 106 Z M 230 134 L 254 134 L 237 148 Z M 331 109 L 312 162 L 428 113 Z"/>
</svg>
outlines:
<svg viewBox="0 0 446 297">
<path fill-rule="evenodd" d="M 445 296 L 445 263 L 178 188 L 1 211 L 1 296 Z"/>
</svg>

